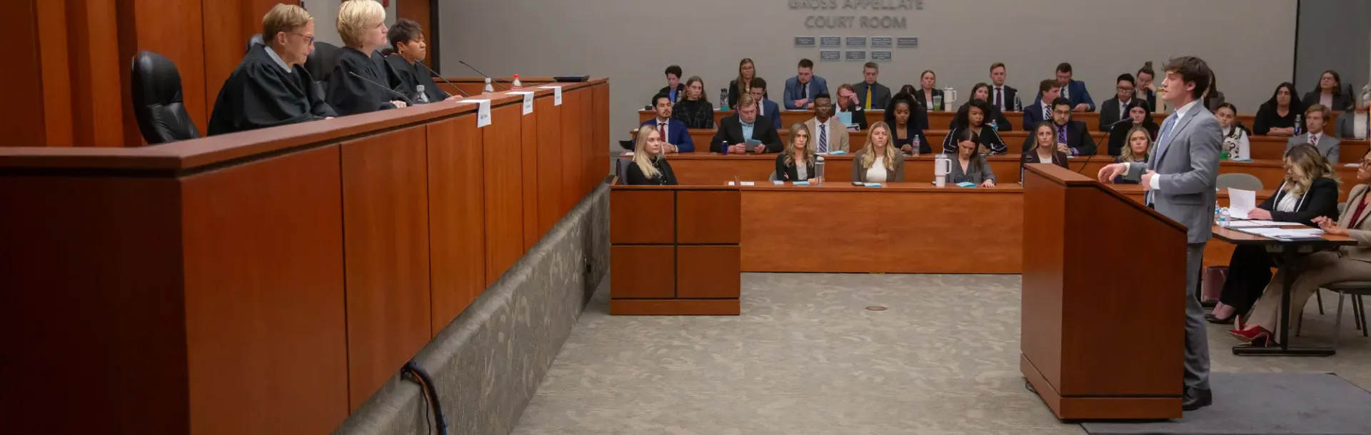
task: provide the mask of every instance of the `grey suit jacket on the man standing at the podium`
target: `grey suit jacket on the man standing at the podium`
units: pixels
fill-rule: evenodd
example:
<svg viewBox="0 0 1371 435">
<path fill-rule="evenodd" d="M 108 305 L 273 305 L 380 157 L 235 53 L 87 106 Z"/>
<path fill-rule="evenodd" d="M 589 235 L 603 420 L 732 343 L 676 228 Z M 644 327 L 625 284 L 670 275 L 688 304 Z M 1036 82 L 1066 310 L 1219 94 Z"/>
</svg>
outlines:
<svg viewBox="0 0 1371 435">
<path fill-rule="evenodd" d="M 1141 180 L 1145 170 L 1156 170 L 1161 189 L 1153 193 L 1157 213 L 1189 228 L 1186 243 L 1209 240 L 1213 225 L 1215 187 L 1219 178 L 1219 150 L 1223 133 L 1219 119 L 1202 103 L 1190 106 L 1171 132 L 1160 137 L 1154 159 L 1128 163 L 1128 180 Z"/>
</svg>

